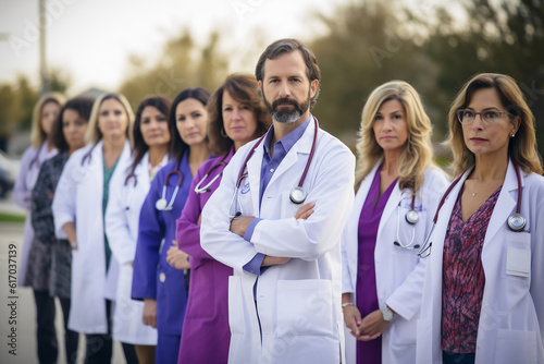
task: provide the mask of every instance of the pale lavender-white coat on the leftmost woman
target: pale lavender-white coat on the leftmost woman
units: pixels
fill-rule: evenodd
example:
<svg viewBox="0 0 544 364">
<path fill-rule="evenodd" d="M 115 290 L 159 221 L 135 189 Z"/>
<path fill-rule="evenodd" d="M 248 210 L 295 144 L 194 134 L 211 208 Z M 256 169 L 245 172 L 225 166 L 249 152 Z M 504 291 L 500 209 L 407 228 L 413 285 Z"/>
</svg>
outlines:
<svg viewBox="0 0 544 364">
<path fill-rule="evenodd" d="M 18 177 L 13 186 L 13 202 L 26 210 L 25 227 L 23 232 L 23 250 L 21 253 L 21 264 L 18 268 L 17 284 L 25 283 L 28 255 L 34 241 L 34 229 L 32 226 L 30 208 L 32 192 L 37 182 L 41 165 L 57 155 L 57 148 L 49 150 L 49 144 L 45 141 L 39 148 L 28 147 L 21 157 L 21 168 Z"/>
</svg>

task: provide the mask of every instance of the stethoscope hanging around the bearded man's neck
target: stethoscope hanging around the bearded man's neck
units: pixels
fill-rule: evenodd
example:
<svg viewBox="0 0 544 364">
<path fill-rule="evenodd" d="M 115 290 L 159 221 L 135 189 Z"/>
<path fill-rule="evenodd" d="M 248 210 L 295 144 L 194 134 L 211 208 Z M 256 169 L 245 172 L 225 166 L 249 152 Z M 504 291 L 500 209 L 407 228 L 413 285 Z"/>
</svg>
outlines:
<svg viewBox="0 0 544 364">
<path fill-rule="evenodd" d="M 293 187 L 289 193 L 290 202 L 296 205 L 300 205 L 301 203 L 304 203 L 306 201 L 306 196 L 308 195 L 306 190 L 302 189 L 302 183 L 306 179 L 306 174 L 308 173 L 308 169 L 310 168 L 311 160 L 313 159 L 313 153 L 316 150 L 316 144 L 318 141 L 318 129 L 319 129 L 318 119 L 313 118 L 313 122 L 316 125 L 316 131 L 313 133 L 313 142 L 311 144 L 310 156 L 308 157 L 308 161 L 306 162 L 306 168 L 302 172 L 302 175 L 300 177 L 298 185 Z M 243 214 L 242 204 L 238 199 L 238 191 L 242 185 L 242 181 L 248 175 L 248 172 L 245 172 L 247 162 L 249 161 L 249 158 L 251 158 L 251 156 L 254 155 L 254 151 L 257 150 L 257 147 L 261 144 L 262 139 L 264 139 L 265 135 L 267 134 L 264 134 L 259 138 L 259 141 L 255 144 L 254 148 L 249 151 L 249 154 L 246 157 L 246 160 L 244 160 L 244 163 L 242 165 L 240 171 L 238 173 L 238 179 L 236 180 L 236 190 L 234 191 L 233 199 L 231 201 L 231 207 L 228 208 L 228 217 L 231 219 L 235 219 L 238 216 L 242 216 Z M 235 206 L 236 210 L 234 214 L 232 214 L 233 206 Z"/>
</svg>

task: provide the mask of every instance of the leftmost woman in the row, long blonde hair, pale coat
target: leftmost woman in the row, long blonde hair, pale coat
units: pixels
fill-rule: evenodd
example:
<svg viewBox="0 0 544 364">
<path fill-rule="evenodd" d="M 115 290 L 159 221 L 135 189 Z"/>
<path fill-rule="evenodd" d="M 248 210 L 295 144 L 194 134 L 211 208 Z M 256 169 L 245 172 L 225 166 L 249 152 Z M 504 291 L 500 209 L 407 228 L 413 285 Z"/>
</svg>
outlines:
<svg viewBox="0 0 544 364">
<path fill-rule="evenodd" d="M 34 245 L 34 229 L 32 227 L 32 192 L 41 165 L 57 155 L 52 143 L 52 128 L 59 119 L 65 98 L 58 93 L 44 95 L 33 111 L 32 146 L 21 158 L 18 178 L 13 187 L 13 201 L 27 211 L 23 235 L 23 251 L 18 270 L 18 284 L 32 287 L 36 302 L 37 347 L 40 363 L 51 363 L 57 360 L 57 335 L 54 330 L 54 299 L 49 295 L 49 284 L 46 279 L 26 277 L 28 256 Z"/>
</svg>

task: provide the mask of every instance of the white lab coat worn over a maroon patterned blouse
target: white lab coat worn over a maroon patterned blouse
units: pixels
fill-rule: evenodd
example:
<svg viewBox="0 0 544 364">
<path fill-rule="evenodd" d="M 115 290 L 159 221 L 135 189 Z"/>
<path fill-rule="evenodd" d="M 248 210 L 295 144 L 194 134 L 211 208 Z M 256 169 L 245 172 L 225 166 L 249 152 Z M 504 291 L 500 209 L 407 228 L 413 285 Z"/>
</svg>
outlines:
<svg viewBox="0 0 544 364">
<path fill-rule="evenodd" d="M 469 172 L 447 196 L 431 236 L 432 251 L 418 320 L 417 362 L 442 363 L 442 267 L 444 239 L 459 191 Z M 510 161 L 503 189 L 487 226 L 482 265 L 485 286 L 477 338 L 475 363 L 544 363 L 544 178 L 521 172 L 523 232 L 507 227 L 516 211 L 518 182 Z M 528 253 L 529 251 L 529 253 Z M 520 254 L 521 253 L 521 254 Z M 530 260 L 520 258 L 530 254 Z M 507 262 L 529 277 L 507 272 Z"/>
</svg>

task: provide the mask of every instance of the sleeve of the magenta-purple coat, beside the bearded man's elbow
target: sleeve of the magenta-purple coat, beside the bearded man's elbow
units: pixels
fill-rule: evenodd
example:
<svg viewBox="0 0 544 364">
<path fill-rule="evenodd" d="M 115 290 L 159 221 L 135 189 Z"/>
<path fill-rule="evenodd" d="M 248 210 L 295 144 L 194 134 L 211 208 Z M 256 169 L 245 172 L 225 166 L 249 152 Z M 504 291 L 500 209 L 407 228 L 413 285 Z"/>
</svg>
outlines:
<svg viewBox="0 0 544 364">
<path fill-rule="evenodd" d="M 175 239 L 177 241 L 177 247 L 187 253 L 190 257 L 213 259 L 213 257 L 200 245 L 200 226 L 197 225 L 198 218 L 202 211 L 202 206 L 200 206 L 200 198 L 195 192 L 195 186 L 202 179 L 203 173 L 206 172 L 202 172 L 201 168 L 198 169 L 197 175 L 195 175 L 190 183 L 187 202 L 183 208 L 182 216 L 176 221 Z"/>
</svg>

